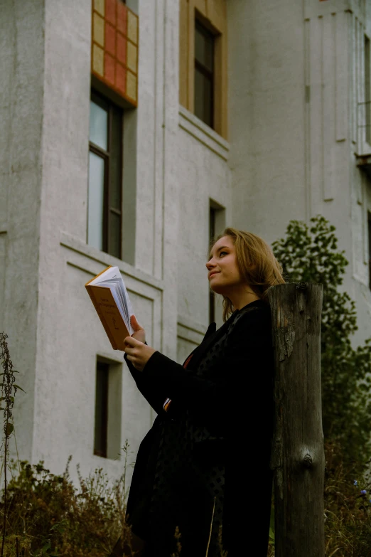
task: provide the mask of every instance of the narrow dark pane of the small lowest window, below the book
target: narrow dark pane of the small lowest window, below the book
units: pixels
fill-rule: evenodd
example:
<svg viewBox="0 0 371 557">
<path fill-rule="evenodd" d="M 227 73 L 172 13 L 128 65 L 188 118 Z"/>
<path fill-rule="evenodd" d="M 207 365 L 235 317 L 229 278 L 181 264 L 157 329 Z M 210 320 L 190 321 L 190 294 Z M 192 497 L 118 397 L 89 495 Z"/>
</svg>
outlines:
<svg viewBox="0 0 371 557">
<path fill-rule="evenodd" d="M 94 454 L 101 457 L 107 457 L 108 373 L 108 364 L 98 361 L 95 382 Z"/>
</svg>

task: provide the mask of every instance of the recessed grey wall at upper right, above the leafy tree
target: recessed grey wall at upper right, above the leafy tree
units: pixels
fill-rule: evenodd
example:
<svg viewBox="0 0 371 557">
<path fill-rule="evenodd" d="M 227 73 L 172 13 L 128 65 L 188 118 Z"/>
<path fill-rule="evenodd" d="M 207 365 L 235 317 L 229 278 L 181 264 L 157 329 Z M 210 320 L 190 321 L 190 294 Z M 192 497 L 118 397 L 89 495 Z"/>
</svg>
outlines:
<svg viewBox="0 0 371 557">
<path fill-rule="evenodd" d="M 348 0 L 228 3 L 234 225 L 269 243 L 293 219 L 310 226 L 321 214 L 336 227 L 349 261 L 339 290 L 355 299 L 360 327 L 354 347 L 371 334 L 362 201 L 371 186 L 355 158 L 370 152 L 361 104 L 366 7 Z"/>
</svg>

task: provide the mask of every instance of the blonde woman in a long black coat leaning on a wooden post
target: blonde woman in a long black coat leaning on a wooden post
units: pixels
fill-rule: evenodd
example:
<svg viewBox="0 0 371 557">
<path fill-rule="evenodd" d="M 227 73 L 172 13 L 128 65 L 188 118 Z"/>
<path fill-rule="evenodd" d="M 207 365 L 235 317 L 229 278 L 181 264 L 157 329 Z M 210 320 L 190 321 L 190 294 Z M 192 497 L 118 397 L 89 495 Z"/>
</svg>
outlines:
<svg viewBox="0 0 371 557">
<path fill-rule="evenodd" d="M 147 346 L 132 316 L 125 356 L 139 391 L 158 414 L 141 442 L 127 522 L 136 555 L 266 557 L 272 474 L 274 352 L 267 290 L 284 283 L 269 245 L 226 228 L 210 246 L 208 280 L 223 297 L 183 366 Z M 128 549 L 114 548 L 112 556 Z"/>
</svg>

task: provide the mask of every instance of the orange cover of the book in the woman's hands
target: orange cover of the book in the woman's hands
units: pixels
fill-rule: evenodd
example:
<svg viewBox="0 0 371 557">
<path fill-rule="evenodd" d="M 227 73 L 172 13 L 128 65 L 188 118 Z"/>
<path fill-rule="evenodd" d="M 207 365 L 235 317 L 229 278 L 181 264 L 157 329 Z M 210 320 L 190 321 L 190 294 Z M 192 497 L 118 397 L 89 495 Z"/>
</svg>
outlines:
<svg viewBox="0 0 371 557">
<path fill-rule="evenodd" d="M 85 284 L 85 288 L 90 296 L 90 299 L 92 300 L 92 303 L 94 304 L 98 316 L 100 317 L 100 321 L 102 322 L 104 331 L 106 331 L 109 341 L 111 342 L 112 348 L 114 350 L 123 351 L 124 339 L 127 336 L 130 336 L 130 332 L 124 322 L 119 307 L 117 307 L 117 302 L 115 302 L 111 289 L 107 286 L 100 286 L 99 284 L 90 284 L 92 281 L 103 275 L 103 273 L 109 269 L 113 269 L 113 267 L 109 265 L 107 269 L 104 269 L 102 272 L 99 273 L 99 275 L 89 280 Z M 124 285 L 124 281 L 122 281 L 122 284 Z M 125 297 L 125 294 L 127 296 L 125 287 L 124 290 Z M 128 296 L 127 299 L 129 300 Z M 129 304 L 129 308 L 126 307 L 125 309 L 130 319 L 131 304 Z"/>
</svg>

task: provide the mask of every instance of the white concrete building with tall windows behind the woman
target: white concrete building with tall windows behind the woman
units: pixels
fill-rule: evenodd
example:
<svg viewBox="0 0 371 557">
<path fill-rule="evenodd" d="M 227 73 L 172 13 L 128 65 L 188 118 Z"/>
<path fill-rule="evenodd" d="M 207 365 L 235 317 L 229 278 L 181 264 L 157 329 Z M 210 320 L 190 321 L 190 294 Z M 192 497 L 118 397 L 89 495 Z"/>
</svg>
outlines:
<svg viewBox="0 0 371 557">
<path fill-rule="evenodd" d="M 122 473 L 154 415 L 85 282 L 117 265 L 148 344 L 182 362 L 210 320 L 211 228 L 271 244 L 328 218 L 353 346 L 371 335 L 370 38 L 370 0 L 0 0 L 0 331 L 26 391 L 21 458 Z"/>
</svg>

